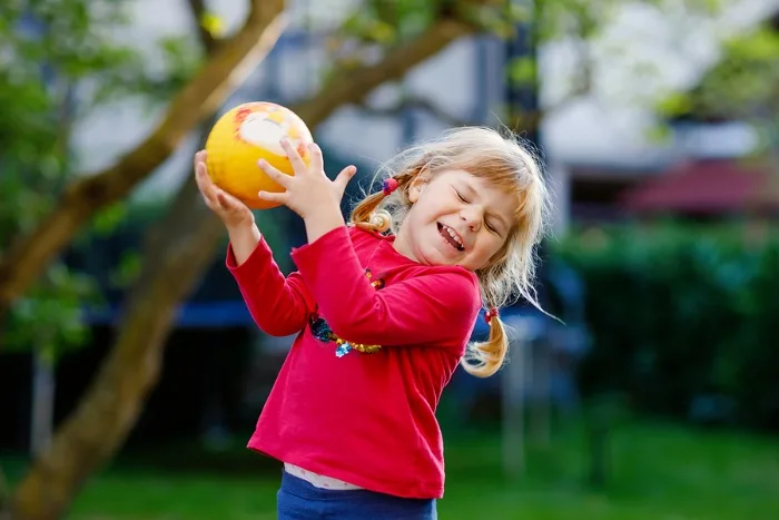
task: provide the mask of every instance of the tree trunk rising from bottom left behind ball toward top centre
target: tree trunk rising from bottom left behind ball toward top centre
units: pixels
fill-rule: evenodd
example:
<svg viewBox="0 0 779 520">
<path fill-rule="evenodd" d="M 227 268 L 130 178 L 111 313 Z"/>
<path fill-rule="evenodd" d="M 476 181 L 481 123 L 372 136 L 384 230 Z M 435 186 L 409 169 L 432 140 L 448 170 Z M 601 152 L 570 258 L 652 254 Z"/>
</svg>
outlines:
<svg viewBox="0 0 779 520">
<path fill-rule="evenodd" d="M 339 106 L 361 100 L 471 30 L 465 23 L 438 22 L 379 63 L 342 77 L 294 109 L 314 128 Z M 97 379 L 18 487 L 17 520 L 60 518 L 86 479 L 122 445 L 158 380 L 176 307 L 214 258 L 223 233 L 190 176 L 166 219 L 149 232 L 141 276 Z"/>
</svg>

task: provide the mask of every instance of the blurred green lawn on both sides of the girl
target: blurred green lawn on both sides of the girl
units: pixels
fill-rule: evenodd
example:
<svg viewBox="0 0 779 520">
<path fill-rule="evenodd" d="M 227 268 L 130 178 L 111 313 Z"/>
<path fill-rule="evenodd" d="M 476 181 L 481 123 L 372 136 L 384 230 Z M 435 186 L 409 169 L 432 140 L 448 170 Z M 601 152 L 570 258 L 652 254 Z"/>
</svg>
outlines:
<svg viewBox="0 0 779 520">
<path fill-rule="evenodd" d="M 614 432 L 607 484 L 586 483 L 579 429 L 527 451 L 526 472 L 501 475 L 495 433 L 447 433 L 443 520 L 769 520 L 779 518 L 779 443 L 737 433 L 631 424 Z M 240 448 L 210 458 L 239 472 L 197 470 L 186 448 L 149 460 L 125 455 L 95 477 L 68 518 L 121 520 L 274 519 L 278 473 Z M 198 460 L 205 460 L 203 458 Z M 185 461 L 190 464 L 185 465 Z M 170 465 L 179 467 L 178 470 Z M 18 463 L 10 464 L 18 475 Z M 246 471 L 246 470 L 249 471 Z"/>
</svg>

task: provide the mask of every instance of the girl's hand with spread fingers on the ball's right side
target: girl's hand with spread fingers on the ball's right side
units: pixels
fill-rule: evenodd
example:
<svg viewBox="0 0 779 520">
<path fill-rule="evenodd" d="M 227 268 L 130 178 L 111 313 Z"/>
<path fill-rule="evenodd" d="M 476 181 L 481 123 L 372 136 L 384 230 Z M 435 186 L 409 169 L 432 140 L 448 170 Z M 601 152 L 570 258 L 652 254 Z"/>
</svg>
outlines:
<svg viewBox="0 0 779 520">
<path fill-rule="evenodd" d="M 260 192 L 257 194 L 259 198 L 284 204 L 303 218 L 310 217 L 313 213 L 323 207 L 328 210 L 332 209 L 333 205 L 338 207 L 346 185 L 354 177 L 357 168 L 347 166 L 338 174 L 335 180 L 331 180 L 325 174 L 324 159 L 318 146 L 312 144 L 308 147 L 312 157 L 309 166 L 306 166 L 300 155 L 287 139 L 282 139 L 282 147 L 287 153 L 295 175 L 285 175 L 260 159 L 258 164 L 263 171 L 285 188 L 285 192 Z"/>
</svg>

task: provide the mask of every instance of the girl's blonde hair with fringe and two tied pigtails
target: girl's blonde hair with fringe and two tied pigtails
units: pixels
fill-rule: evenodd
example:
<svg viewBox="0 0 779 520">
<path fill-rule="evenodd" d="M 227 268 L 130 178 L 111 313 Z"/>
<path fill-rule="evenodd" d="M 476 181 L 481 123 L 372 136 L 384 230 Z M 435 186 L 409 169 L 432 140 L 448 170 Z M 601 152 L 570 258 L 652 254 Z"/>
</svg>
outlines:
<svg viewBox="0 0 779 520">
<path fill-rule="evenodd" d="M 501 249 L 487 265 L 475 272 L 487 310 L 502 307 L 522 296 L 541 310 L 533 282 L 536 247 L 543 239 L 550 212 L 550 193 L 540 161 L 506 131 L 485 127 L 460 127 L 438 139 L 413 146 L 383 165 L 377 177 L 394 178 L 397 188 L 388 196 L 379 190 L 367 195 L 352 212 L 352 223 L 374 232 L 397 234 L 412 204 L 408 189 L 422 173 L 460 169 L 487 179 L 517 197 L 514 225 Z M 492 313 L 491 313 L 492 314 Z M 489 320 L 486 341 L 469 345 L 463 367 L 479 377 L 497 372 L 509 350 L 509 336 L 500 316 Z"/>
</svg>

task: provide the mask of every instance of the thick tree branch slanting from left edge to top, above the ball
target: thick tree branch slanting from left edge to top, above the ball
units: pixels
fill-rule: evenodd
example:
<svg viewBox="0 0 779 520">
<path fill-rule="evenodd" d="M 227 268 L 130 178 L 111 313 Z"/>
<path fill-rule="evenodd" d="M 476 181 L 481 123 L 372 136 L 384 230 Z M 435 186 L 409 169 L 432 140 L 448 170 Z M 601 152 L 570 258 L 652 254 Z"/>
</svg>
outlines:
<svg viewBox="0 0 779 520">
<path fill-rule="evenodd" d="M 278 40 L 286 26 L 283 9 L 284 0 L 253 0 L 244 27 L 219 46 L 149 136 L 115 165 L 78 176 L 49 216 L 11 245 L 0 258 L 0 316 L 97 210 L 124 198 L 198 122 L 216 112 Z"/>
</svg>

